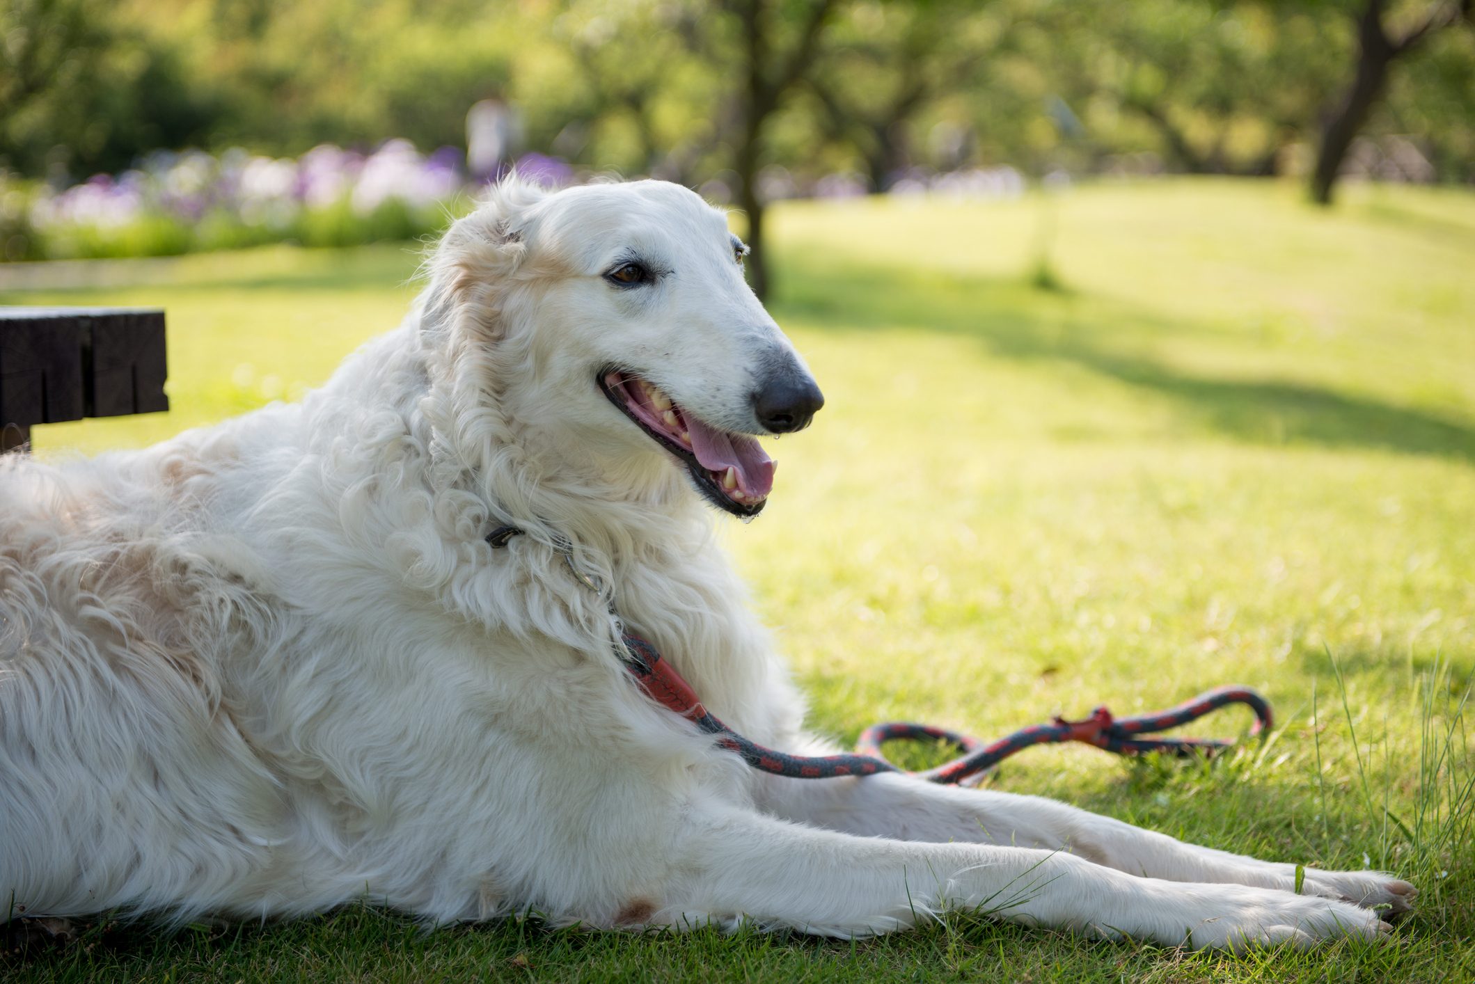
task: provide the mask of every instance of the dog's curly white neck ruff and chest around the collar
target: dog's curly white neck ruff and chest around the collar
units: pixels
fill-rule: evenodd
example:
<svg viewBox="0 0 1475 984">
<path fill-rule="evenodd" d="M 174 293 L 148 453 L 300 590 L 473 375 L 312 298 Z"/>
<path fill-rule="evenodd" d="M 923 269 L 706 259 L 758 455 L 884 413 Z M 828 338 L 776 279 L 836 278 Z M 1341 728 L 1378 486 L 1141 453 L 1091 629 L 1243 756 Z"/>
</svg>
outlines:
<svg viewBox="0 0 1475 984">
<path fill-rule="evenodd" d="M 612 597 L 714 713 L 763 736 L 767 711 L 755 695 L 770 674 L 767 642 L 714 540 L 717 515 L 686 477 L 650 469 L 646 487 L 621 490 L 618 471 L 547 454 L 540 435 L 509 423 L 496 404 L 457 407 L 465 394 L 437 388 L 434 360 L 444 356 L 428 348 L 407 323 L 302 404 L 305 450 L 335 460 L 324 472 L 332 482 L 316 494 L 353 497 L 358 521 L 372 519 L 345 531 L 369 547 L 357 556 L 472 626 L 617 661 Z M 504 524 L 525 536 L 493 550 L 484 538 Z M 575 580 L 565 544 L 609 596 Z"/>
</svg>

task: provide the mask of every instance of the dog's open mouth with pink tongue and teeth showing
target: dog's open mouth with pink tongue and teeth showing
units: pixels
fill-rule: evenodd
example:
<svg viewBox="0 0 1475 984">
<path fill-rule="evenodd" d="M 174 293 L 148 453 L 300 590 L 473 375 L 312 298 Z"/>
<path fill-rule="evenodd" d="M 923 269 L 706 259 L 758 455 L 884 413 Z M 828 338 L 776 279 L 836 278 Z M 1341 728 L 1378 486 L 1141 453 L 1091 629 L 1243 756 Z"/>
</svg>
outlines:
<svg viewBox="0 0 1475 984">
<path fill-rule="evenodd" d="M 757 516 L 773 491 L 777 468 L 746 434 L 718 431 L 639 376 L 605 369 L 599 387 L 609 401 L 686 465 L 698 491 L 735 516 Z"/>
</svg>

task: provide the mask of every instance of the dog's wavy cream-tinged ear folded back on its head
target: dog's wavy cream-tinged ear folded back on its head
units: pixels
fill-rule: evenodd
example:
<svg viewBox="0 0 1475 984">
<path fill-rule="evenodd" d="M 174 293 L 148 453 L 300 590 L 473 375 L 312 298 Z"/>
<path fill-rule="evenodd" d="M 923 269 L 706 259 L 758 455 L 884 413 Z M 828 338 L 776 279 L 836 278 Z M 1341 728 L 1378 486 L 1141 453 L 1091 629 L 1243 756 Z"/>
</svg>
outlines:
<svg viewBox="0 0 1475 984">
<path fill-rule="evenodd" d="M 444 339 L 462 328 L 481 341 L 496 341 L 500 295 L 528 255 L 528 218 L 544 198 L 543 187 L 510 176 L 445 230 L 426 264 L 431 288 L 422 332 Z"/>
</svg>

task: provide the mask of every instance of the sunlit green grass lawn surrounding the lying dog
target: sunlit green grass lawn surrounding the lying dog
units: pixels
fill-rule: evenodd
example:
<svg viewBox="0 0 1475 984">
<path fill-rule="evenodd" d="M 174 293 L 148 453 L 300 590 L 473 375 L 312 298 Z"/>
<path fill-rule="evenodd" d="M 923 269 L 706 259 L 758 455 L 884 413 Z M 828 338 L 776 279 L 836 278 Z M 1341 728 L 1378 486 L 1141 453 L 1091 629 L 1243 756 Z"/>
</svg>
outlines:
<svg viewBox="0 0 1475 984">
<path fill-rule="evenodd" d="M 0 975 L 1475 978 L 1460 716 L 1475 673 L 1475 195 L 1348 189 L 1323 212 L 1299 187 L 1174 180 L 792 204 L 771 221 L 771 307 L 829 403 L 773 448 L 761 521 L 724 537 L 814 723 L 847 739 L 891 717 L 997 736 L 1248 683 L 1277 729 L 1212 766 L 1058 746 L 991 782 L 1226 850 L 1395 870 L 1422 895 L 1391 940 L 1235 957 L 968 915 L 838 943 L 531 921 L 423 931 L 354 907 L 173 937 L 97 926 Z M 38 453 L 139 446 L 291 398 L 397 322 L 414 264 L 385 246 L 0 267 L 3 302 L 168 308 L 174 410 L 37 428 Z"/>
</svg>

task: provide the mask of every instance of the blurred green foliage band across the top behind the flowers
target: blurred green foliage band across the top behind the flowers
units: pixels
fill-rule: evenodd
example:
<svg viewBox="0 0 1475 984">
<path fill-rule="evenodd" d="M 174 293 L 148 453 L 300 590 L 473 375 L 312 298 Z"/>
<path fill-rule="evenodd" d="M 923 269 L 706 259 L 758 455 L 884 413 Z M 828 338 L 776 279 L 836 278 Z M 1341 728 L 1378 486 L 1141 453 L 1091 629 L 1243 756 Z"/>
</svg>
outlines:
<svg viewBox="0 0 1475 984">
<path fill-rule="evenodd" d="M 1364 1 L 6 0 L 0 167 L 56 183 L 156 148 L 460 146 L 466 109 L 497 97 L 525 149 L 717 176 L 738 201 L 771 167 L 873 189 L 916 167 L 1121 155 L 1273 173 L 1350 81 Z M 1475 180 L 1475 31 L 1400 62 L 1367 131 Z"/>
</svg>

